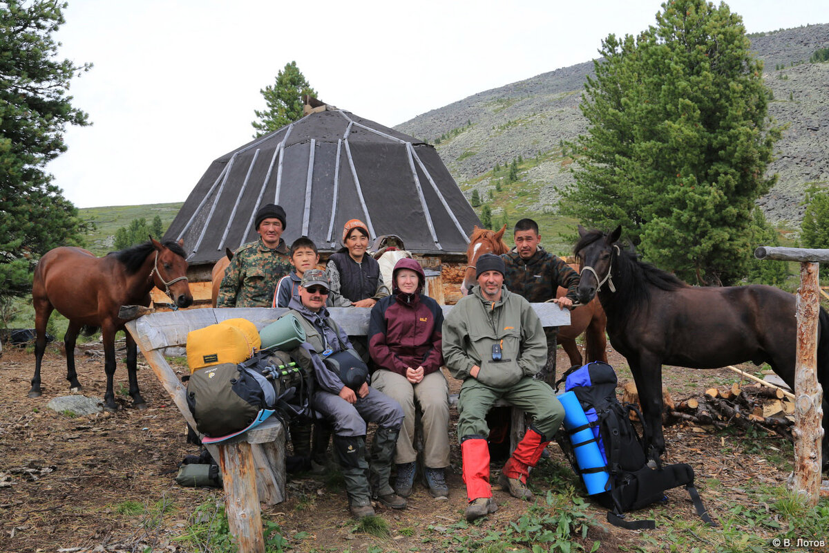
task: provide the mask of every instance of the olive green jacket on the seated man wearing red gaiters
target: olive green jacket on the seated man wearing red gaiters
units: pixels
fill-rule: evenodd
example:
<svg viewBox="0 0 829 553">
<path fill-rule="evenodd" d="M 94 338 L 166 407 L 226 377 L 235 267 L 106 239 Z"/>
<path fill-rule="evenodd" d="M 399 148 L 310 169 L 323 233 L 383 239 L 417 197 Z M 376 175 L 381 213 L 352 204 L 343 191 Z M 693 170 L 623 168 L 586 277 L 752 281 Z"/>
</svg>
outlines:
<svg viewBox="0 0 829 553">
<path fill-rule="evenodd" d="M 444 319 L 444 363 L 458 380 L 471 378 L 478 365 L 478 381 L 491 388 L 509 388 L 523 376 L 535 376 L 547 361 L 547 340 L 541 319 L 526 299 L 501 289 L 501 299 L 490 303 L 475 286 Z M 492 345 L 500 344 L 501 360 L 492 359 Z"/>
</svg>

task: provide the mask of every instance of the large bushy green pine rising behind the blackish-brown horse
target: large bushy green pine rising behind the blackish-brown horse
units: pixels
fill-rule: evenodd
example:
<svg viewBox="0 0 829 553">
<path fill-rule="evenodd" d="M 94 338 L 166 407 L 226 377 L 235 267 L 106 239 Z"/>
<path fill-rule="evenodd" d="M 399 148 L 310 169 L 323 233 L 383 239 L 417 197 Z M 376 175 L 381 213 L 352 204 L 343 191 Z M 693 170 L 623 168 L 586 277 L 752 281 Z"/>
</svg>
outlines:
<svg viewBox="0 0 829 553">
<path fill-rule="evenodd" d="M 656 26 L 635 39 L 610 35 L 600 54 L 562 211 L 622 225 L 645 259 L 690 282 L 743 278 L 780 129 L 741 18 L 725 3 L 666 2 Z"/>
</svg>

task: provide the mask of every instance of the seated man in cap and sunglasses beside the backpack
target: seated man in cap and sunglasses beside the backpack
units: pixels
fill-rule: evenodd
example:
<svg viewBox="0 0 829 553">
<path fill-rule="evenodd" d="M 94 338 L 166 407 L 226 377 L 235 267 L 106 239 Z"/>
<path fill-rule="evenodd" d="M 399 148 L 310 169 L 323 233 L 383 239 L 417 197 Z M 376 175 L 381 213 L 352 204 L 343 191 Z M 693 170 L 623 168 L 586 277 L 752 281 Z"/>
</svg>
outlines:
<svg viewBox="0 0 829 553">
<path fill-rule="evenodd" d="M 403 424 L 400 404 L 369 386 L 368 367 L 354 351 L 348 336 L 328 316 L 325 307 L 331 289 L 325 271 L 309 269 L 299 285 L 299 301 L 291 298 L 293 313 L 305 330 L 298 349 L 301 366 L 313 371 L 312 405 L 333 427 L 334 450 L 346 481 L 351 515 L 374 515 L 371 497 L 386 507 L 402 509 L 406 500 L 391 488 L 391 461 Z M 366 427 L 377 424 L 371 452 L 366 453 Z"/>
</svg>

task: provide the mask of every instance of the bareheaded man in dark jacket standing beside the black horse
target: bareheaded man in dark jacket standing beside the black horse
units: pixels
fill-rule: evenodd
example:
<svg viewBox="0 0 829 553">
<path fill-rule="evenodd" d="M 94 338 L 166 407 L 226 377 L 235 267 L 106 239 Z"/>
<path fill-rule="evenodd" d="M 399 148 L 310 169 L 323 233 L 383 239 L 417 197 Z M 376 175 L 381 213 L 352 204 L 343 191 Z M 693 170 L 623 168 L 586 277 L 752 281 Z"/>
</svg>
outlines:
<svg viewBox="0 0 829 553">
<path fill-rule="evenodd" d="M 513 238 L 516 247 L 503 254 L 507 273 L 504 284 L 512 293 L 523 296 L 531 303 L 553 299 L 564 309 L 572 309 L 578 298 L 579 274 L 559 257 L 547 253 L 541 247 L 538 224 L 532 219 L 521 219 L 515 226 Z M 555 299 L 558 287 L 567 289 L 562 298 Z M 553 386 L 555 382 L 555 347 L 558 327 L 546 327 L 547 363 L 537 378 Z"/>
</svg>

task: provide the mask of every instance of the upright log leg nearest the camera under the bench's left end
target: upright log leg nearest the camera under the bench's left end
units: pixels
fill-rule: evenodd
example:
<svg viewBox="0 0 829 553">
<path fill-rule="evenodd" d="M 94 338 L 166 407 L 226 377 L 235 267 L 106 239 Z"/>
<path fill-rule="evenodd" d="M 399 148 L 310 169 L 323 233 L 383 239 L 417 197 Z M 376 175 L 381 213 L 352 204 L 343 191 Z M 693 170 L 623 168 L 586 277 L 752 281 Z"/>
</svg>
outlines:
<svg viewBox="0 0 829 553">
<path fill-rule="evenodd" d="M 225 483 L 225 511 L 239 553 L 264 553 L 262 514 L 256 492 L 256 468 L 250 444 L 222 444 L 219 463 Z"/>
</svg>

